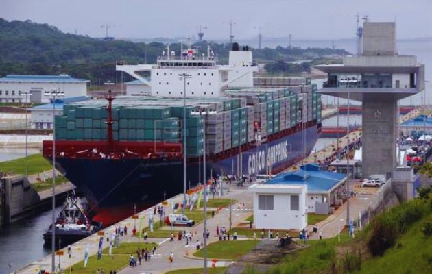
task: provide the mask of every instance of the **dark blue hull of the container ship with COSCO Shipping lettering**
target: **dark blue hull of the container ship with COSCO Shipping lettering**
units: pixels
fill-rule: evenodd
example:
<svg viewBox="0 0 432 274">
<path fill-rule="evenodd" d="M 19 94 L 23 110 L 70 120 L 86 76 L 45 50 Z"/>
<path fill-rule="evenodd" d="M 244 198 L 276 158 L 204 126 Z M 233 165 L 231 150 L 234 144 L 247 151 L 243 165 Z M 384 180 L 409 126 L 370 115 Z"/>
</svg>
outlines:
<svg viewBox="0 0 432 274">
<path fill-rule="evenodd" d="M 318 136 L 317 125 L 311 125 L 241 154 L 220 160 L 209 157 L 206 177 L 237 174 L 238 169 L 245 175 L 275 174 L 309 155 Z M 183 192 L 183 162 L 178 159 L 57 158 L 56 166 L 87 197 L 93 220 L 104 225 L 134 214 L 135 206 L 143 210 Z M 202 177 L 202 162 L 187 164 L 187 188 Z"/>
</svg>

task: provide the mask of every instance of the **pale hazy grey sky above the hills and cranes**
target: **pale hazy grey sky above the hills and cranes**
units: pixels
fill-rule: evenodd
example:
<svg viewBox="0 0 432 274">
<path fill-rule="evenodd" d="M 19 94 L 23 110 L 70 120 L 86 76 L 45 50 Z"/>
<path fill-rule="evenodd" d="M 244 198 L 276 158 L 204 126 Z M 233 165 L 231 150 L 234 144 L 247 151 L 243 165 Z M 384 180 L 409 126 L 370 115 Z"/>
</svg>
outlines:
<svg viewBox="0 0 432 274">
<path fill-rule="evenodd" d="M 48 23 L 63 32 L 146 39 L 263 36 L 339 39 L 355 36 L 356 14 L 395 21 L 398 38 L 432 36 L 432 0 L 0 0 L 0 18 Z"/>
</svg>

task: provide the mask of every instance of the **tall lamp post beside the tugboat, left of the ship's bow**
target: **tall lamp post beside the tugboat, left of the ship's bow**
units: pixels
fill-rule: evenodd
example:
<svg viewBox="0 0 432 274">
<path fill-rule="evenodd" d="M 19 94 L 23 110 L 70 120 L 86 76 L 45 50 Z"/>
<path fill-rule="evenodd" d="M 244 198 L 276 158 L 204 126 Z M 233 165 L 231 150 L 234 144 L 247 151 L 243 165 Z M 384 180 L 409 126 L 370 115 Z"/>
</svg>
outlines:
<svg viewBox="0 0 432 274">
<path fill-rule="evenodd" d="M 53 99 L 53 197 L 52 197 L 52 227 L 51 227 L 51 271 L 56 271 L 56 99 L 64 97 L 64 92 L 58 90 L 45 91 L 44 96 Z"/>
</svg>

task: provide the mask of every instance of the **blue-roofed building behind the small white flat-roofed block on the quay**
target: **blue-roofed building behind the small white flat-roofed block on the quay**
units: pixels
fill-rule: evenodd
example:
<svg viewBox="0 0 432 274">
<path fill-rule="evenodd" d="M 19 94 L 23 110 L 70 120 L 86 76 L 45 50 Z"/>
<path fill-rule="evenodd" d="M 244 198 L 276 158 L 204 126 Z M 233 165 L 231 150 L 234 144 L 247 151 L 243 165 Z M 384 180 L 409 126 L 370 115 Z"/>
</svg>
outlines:
<svg viewBox="0 0 432 274">
<path fill-rule="evenodd" d="M 328 208 L 339 206 L 345 196 L 346 175 L 324 171 L 318 164 L 305 164 L 298 171 L 280 173 L 265 184 L 307 186 L 307 211 L 327 214 Z"/>
</svg>

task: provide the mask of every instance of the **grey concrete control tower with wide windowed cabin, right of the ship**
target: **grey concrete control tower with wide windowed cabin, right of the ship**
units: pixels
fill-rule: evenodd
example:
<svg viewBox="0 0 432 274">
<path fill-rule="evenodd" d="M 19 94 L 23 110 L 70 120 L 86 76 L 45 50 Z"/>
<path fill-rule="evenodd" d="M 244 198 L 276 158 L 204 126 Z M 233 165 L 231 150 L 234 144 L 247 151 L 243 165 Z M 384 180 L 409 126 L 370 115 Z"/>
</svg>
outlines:
<svg viewBox="0 0 432 274">
<path fill-rule="evenodd" d="M 361 55 L 314 66 L 328 75 L 319 92 L 362 102 L 363 177 L 393 174 L 398 100 L 424 90 L 424 65 L 416 56 L 398 55 L 394 22 L 363 23 L 361 42 Z"/>
</svg>

